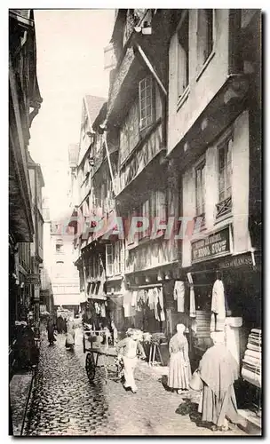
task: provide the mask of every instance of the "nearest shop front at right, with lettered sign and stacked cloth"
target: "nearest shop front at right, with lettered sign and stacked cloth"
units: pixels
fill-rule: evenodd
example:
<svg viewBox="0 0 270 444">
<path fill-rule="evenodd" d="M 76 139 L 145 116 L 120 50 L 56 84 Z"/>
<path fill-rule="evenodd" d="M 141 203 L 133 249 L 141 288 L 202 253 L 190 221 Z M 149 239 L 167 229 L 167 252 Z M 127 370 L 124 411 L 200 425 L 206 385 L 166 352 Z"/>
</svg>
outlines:
<svg viewBox="0 0 270 444">
<path fill-rule="evenodd" d="M 211 345 L 211 331 L 223 330 L 226 346 L 239 364 L 239 385 L 252 392 L 260 385 L 260 254 L 254 250 L 233 254 L 231 226 L 226 226 L 191 242 L 191 255 L 192 266 L 183 271 L 195 302 L 189 321 L 193 368 Z"/>
</svg>

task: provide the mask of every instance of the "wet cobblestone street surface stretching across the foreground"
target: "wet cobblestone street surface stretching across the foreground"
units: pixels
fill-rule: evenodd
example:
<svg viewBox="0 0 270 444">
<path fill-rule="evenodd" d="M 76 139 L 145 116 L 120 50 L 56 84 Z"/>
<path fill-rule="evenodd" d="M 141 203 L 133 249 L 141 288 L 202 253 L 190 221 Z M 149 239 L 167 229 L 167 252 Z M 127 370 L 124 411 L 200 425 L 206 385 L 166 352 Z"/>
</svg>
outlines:
<svg viewBox="0 0 270 444">
<path fill-rule="evenodd" d="M 106 385 L 103 369 L 91 384 L 81 331 L 76 330 L 74 352 L 66 350 L 65 339 L 59 335 L 52 347 L 42 341 L 25 435 L 246 435 L 238 428 L 211 432 L 203 427 L 197 395 L 167 392 L 161 378 L 147 374 L 146 365 L 136 369 L 136 394 L 115 382 L 113 372 Z"/>
</svg>

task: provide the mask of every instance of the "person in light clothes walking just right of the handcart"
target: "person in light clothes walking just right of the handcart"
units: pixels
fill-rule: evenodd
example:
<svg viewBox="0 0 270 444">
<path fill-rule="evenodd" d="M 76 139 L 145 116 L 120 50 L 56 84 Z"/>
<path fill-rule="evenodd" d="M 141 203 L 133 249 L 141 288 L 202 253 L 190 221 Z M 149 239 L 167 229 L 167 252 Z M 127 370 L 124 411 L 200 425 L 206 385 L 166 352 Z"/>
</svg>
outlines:
<svg viewBox="0 0 270 444">
<path fill-rule="evenodd" d="M 137 386 L 134 379 L 134 370 L 137 364 L 137 353 L 141 354 L 142 358 L 146 358 L 143 346 L 139 342 L 139 332 L 134 329 L 127 330 L 127 337 L 116 345 L 116 352 L 118 359 L 123 359 L 123 377 L 124 388 L 131 388 L 132 393 L 137 392 Z"/>
</svg>

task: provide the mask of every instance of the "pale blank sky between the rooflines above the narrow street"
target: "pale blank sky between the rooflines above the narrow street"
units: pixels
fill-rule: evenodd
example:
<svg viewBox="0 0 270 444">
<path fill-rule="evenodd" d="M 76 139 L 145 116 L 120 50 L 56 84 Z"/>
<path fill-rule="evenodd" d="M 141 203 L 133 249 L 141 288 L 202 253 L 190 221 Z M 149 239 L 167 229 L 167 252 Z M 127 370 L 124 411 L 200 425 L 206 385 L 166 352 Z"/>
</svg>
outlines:
<svg viewBox="0 0 270 444">
<path fill-rule="evenodd" d="M 68 213 L 67 149 L 78 143 L 83 95 L 107 98 L 104 47 L 115 11 L 35 10 L 37 78 L 44 101 L 31 127 L 29 151 L 40 163 L 51 218 Z"/>
</svg>

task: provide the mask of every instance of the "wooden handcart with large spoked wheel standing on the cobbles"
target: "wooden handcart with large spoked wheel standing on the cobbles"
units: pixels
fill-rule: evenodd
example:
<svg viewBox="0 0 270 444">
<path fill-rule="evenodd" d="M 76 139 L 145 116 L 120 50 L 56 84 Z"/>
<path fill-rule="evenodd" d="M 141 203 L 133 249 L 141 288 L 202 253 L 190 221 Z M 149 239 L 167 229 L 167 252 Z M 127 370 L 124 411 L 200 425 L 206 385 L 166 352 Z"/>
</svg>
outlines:
<svg viewBox="0 0 270 444">
<path fill-rule="evenodd" d="M 105 344 L 100 344 L 97 337 L 105 337 Z M 85 369 L 89 380 L 92 382 L 96 376 L 96 369 L 105 370 L 105 381 L 107 384 L 108 369 L 111 369 L 117 378 L 119 378 L 118 367 L 115 360 L 112 363 L 111 358 L 116 358 L 115 347 L 108 345 L 106 330 L 86 330 L 83 331 L 83 353 L 86 353 Z M 99 364 L 99 365 L 98 365 Z"/>
</svg>

